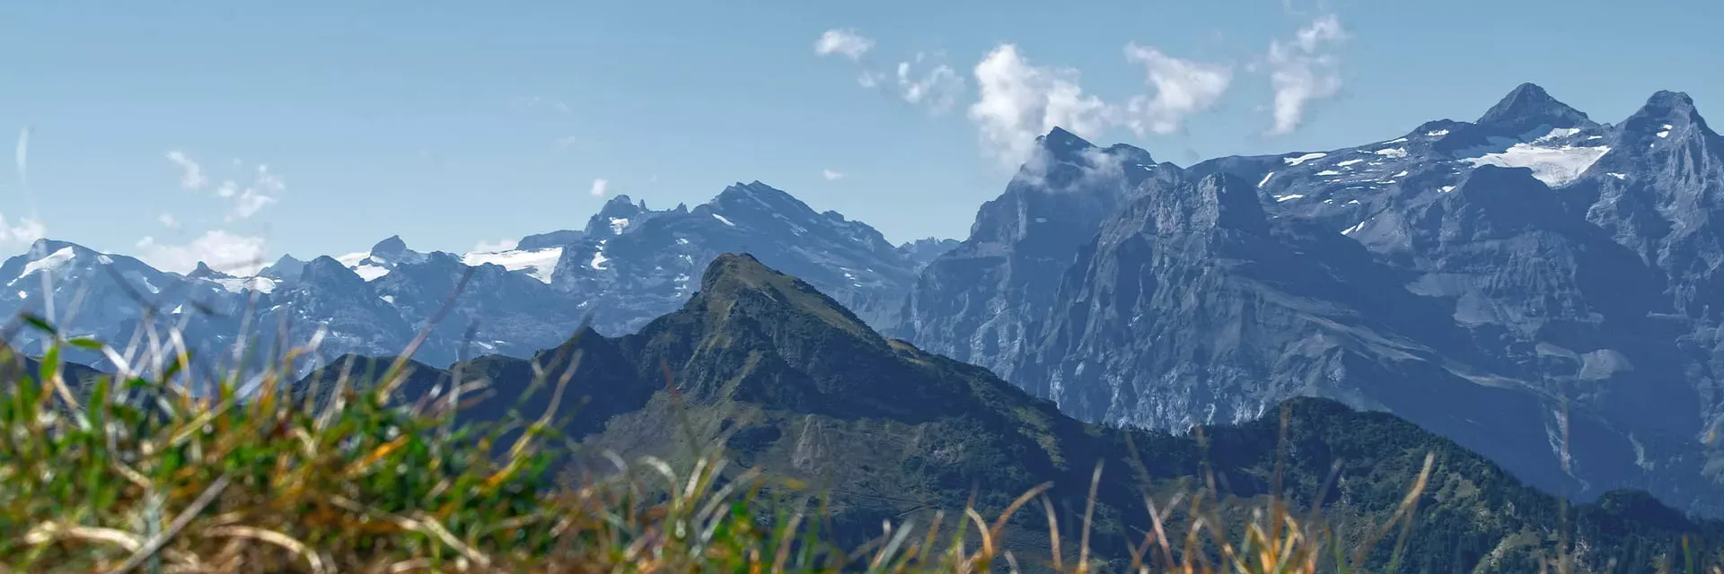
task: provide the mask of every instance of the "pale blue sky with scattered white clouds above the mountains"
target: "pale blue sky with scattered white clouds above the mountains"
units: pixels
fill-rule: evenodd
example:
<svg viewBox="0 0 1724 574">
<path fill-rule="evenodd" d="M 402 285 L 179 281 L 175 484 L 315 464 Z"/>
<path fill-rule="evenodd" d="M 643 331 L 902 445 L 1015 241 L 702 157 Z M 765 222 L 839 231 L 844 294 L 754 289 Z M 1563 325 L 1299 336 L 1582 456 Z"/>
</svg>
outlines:
<svg viewBox="0 0 1724 574">
<path fill-rule="evenodd" d="M 1724 110 L 1724 2 L 0 2 L 0 255 L 503 248 L 764 181 L 964 238 L 1062 126 L 1190 165 L 1476 119 Z"/>
</svg>

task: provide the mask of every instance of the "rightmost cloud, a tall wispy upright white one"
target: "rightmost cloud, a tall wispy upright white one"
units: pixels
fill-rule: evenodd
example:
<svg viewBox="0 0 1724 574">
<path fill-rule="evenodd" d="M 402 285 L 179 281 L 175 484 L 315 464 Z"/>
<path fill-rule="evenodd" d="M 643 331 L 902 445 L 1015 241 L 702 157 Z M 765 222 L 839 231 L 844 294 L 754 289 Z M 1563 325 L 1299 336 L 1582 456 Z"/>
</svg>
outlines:
<svg viewBox="0 0 1724 574">
<path fill-rule="evenodd" d="M 1333 48 L 1346 38 L 1341 21 L 1329 14 L 1300 28 L 1291 41 L 1269 41 L 1269 83 L 1276 90 L 1271 134 L 1293 133 L 1312 100 L 1341 91 L 1340 62 Z"/>
</svg>

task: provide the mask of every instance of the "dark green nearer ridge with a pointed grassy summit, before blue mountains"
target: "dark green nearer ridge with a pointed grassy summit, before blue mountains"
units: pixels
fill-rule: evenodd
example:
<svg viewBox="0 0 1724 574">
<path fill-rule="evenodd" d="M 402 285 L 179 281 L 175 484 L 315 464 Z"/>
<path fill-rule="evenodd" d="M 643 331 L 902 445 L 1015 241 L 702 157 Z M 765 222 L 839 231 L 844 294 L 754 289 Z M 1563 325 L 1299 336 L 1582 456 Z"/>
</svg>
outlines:
<svg viewBox="0 0 1724 574">
<path fill-rule="evenodd" d="M 336 372 L 357 374 L 353 383 L 365 388 L 393 362 L 341 357 L 293 390 L 324 402 Z M 567 369 L 562 391 L 536 384 Z M 826 496 L 822 533 L 840 543 L 879 536 L 881 521 L 933 524 L 936 510 L 965 503 L 995 515 L 1040 483 L 1053 484 L 1048 496 L 1062 533 L 1078 540 L 1096 481 L 1086 540 L 1122 565 L 1155 527 L 1143 496 L 1167 503 L 1205 477 L 1224 493 L 1231 519 L 1245 521 L 1245 508 L 1279 493 L 1298 508 L 1321 505 L 1340 536 L 1353 540 L 1395 514 L 1427 453 L 1433 472 L 1419 521 L 1396 534 L 1405 536 L 1403 565 L 1412 571 L 1531 572 L 1564 545 L 1584 548 L 1577 558 L 1590 571 L 1615 564 L 1650 572 L 1681 564 L 1683 536 L 1700 555 L 1724 543 L 1724 524 L 1693 522 L 1645 493 L 1612 491 L 1593 505 L 1564 507 L 1450 440 L 1333 400 L 1288 400 L 1267 417 L 1205 427 L 1202 436 L 1084 424 L 986 369 L 881 336 L 834 298 L 750 255 L 719 255 L 681 309 L 636 333 L 607 338 L 586 329 L 531 359 L 412 364 L 397 393 L 405 402 L 443 400 L 457 381 L 476 390 L 459 412 L 471 422 L 533 419 L 545 409 L 572 414 L 557 421 L 562 436 L 578 441 L 576 453 L 653 455 L 678 465 L 724 445 L 734 469 L 728 477 L 760 469 Z M 1188 521 L 1176 514 L 1169 527 Z M 1003 543 L 1021 562 L 1034 565 L 1053 552 L 1040 510 L 1009 524 Z M 1369 553 L 1367 565 L 1381 569 L 1395 541 Z"/>
</svg>

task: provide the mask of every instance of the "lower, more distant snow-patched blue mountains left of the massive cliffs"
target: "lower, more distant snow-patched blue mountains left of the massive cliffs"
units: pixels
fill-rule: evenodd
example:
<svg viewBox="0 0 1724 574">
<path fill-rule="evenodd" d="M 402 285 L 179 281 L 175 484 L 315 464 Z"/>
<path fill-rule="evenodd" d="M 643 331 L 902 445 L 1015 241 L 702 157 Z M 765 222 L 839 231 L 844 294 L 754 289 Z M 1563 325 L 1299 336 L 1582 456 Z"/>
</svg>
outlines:
<svg viewBox="0 0 1724 574">
<path fill-rule="evenodd" d="M 45 315 L 66 333 L 121 345 L 140 340 L 145 324 L 164 334 L 178 328 L 205 365 L 231 365 L 236 346 L 259 357 L 317 331 L 322 357 L 395 355 L 448 307 L 415 355 L 441 365 L 490 353 L 531 357 L 583 321 L 629 333 L 683 305 L 688 278 L 698 284 L 714 257 L 740 250 L 796 269 L 869 321 L 890 324 L 915 271 L 952 245 L 891 246 L 867 224 L 750 183 L 693 210 L 650 210 L 617 197 L 584 229 L 531 234 L 502 252 L 426 253 L 390 236 L 359 253 L 309 262 L 283 255 L 248 278 L 202 264 L 190 274 L 162 272 L 131 257 L 38 241 L 0 265 L 9 281 L 0 312 Z M 43 278 L 52 296 L 41 295 Z M 150 321 L 140 302 L 157 309 Z M 41 334 L 26 329 L 12 340 L 33 348 Z M 97 353 L 78 359 L 112 367 Z"/>
</svg>

